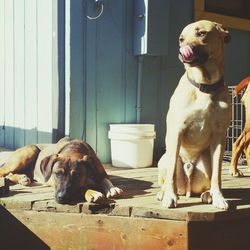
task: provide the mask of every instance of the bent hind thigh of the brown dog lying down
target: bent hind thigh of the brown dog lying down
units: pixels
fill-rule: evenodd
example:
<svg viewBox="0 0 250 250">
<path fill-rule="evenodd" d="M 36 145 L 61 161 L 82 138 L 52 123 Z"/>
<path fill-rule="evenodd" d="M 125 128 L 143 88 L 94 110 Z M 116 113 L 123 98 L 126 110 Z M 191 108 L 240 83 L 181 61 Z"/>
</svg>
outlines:
<svg viewBox="0 0 250 250">
<path fill-rule="evenodd" d="M 22 174 L 26 172 L 33 172 L 39 152 L 40 149 L 38 149 L 35 145 L 17 149 L 0 168 L 0 176 L 3 177 L 10 173 Z"/>
</svg>

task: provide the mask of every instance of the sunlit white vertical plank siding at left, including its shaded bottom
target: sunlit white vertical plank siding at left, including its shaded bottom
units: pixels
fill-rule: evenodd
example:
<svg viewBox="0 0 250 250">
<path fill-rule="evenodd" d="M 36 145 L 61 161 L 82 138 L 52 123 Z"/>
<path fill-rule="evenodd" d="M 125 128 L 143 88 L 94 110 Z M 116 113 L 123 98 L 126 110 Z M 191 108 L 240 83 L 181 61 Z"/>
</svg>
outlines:
<svg viewBox="0 0 250 250">
<path fill-rule="evenodd" d="M 52 141 L 52 4 L 0 0 L 0 146 Z"/>
</svg>

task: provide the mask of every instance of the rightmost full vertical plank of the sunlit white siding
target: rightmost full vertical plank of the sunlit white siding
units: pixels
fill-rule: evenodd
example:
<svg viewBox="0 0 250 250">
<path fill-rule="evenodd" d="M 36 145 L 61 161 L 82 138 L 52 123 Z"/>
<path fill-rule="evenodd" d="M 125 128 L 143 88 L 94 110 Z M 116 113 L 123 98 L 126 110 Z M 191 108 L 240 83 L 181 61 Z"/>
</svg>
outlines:
<svg viewBox="0 0 250 250">
<path fill-rule="evenodd" d="M 37 119 L 39 141 L 51 140 L 52 124 L 52 1 L 37 1 Z"/>
</svg>

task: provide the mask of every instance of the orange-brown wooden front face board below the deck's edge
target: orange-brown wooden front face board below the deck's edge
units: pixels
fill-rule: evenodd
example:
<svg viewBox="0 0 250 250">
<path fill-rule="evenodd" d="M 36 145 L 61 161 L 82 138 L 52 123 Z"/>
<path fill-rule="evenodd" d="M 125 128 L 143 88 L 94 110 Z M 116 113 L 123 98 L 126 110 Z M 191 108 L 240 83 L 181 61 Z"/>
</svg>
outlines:
<svg viewBox="0 0 250 250">
<path fill-rule="evenodd" d="M 22 232 L 16 226 L 20 222 L 27 227 Z M 22 235 L 20 241 L 13 241 L 5 230 L 1 244 L 9 246 L 8 249 L 188 249 L 184 221 L 14 210 L 7 224 L 10 234 Z"/>
</svg>

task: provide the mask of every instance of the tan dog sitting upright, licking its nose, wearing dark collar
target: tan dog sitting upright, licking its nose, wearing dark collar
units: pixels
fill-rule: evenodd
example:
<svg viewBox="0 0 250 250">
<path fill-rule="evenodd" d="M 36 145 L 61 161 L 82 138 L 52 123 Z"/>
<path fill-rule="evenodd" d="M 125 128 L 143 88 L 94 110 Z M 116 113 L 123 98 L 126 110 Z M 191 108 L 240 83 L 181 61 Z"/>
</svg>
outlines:
<svg viewBox="0 0 250 250">
<path fill-rule="evenodd" d="M 201 194 L 203 202 L 228 209 L 221 193 L 221 167 L 231 103 L 224 85 L 224 43 L 230 35 L 206 20 L 186 26 L 179 38 L 186 72 L 171 97 L 166 118 L 166 153 L 158 163 L 164 207 L 177 195 Z"/>
</svg>

